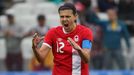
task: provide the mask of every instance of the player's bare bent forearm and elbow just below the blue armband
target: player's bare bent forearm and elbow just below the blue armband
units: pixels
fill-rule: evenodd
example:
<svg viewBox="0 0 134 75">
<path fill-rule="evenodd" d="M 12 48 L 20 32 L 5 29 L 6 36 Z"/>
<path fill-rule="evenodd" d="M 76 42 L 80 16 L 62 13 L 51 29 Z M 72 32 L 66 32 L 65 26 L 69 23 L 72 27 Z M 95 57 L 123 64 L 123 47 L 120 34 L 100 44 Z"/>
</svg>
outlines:
<svg viewBox="0 0 134 75">
<path fill-rule="evenodd" d="M 80 49 L 78 50 L 78 53 L 85 63 L 89 62 L 90 54 L 88 49 Z"/>
</svg>

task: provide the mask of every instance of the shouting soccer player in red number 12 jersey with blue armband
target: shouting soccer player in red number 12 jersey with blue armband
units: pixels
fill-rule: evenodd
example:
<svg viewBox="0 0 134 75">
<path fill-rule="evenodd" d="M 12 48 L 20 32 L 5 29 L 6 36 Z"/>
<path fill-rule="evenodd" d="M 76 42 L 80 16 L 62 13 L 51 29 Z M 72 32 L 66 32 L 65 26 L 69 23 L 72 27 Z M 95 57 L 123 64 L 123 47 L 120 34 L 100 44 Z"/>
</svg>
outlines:
<svg viewBox="0 0 134 75">
<path fill-rule="evenodd" d="M 40 37 L 36 33 L 32 40 L 33 51 L 40 63 L 52 49 L 54 67 L 52 75 L 89 75 L 88 61 L 93 35 L 89 28 L 76 24 L 77 12 L 71 3 L 58 9 L 61 26 L 52 28 L 37 48 Z"/>
</svg>

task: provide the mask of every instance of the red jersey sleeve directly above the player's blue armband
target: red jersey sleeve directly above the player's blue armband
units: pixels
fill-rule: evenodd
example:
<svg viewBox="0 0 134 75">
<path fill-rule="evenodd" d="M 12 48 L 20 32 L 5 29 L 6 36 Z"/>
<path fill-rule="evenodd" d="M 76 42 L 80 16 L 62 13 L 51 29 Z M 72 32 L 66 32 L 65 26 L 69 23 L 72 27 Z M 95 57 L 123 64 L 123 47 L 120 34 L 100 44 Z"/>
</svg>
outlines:
<svg viewBox="0 0 134 75">
<path fill-rule="evenodd" d="M 90 40 L 91 42 L 93 41 L 93 33 L 92 33 L 91 29 L 86 28 L 84 30 L 84 39 L 83 40 Z"/>
</svg>

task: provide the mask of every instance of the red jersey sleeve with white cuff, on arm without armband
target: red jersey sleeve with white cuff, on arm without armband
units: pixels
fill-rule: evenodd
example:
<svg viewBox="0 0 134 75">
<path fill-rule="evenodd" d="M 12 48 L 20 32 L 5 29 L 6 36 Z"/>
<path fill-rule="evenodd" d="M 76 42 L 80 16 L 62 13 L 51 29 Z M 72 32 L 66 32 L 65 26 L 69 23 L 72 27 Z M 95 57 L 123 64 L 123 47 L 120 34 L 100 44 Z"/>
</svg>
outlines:
<svg viewBox="0 0 134 75">
<path fill-rule="evenodd" d="M 54 33 L 54 29 L 50 29 L 44 38 L 44 44 L 46 44 L 49 47 L 52 47 L 53 36 L 54 36 L 53 33 Z"/>
</svg>

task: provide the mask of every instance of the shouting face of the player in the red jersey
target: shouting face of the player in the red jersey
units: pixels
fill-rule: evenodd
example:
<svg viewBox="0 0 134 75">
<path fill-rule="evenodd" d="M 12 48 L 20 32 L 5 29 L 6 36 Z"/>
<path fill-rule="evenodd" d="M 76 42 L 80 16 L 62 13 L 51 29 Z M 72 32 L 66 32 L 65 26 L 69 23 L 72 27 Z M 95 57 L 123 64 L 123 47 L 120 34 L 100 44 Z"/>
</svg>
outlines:
<svg viewBox="0 0 134 75">
<path fill-rule="evenodd" d="M 77 19 L 77 15 L 74 15 L 73 11 L 70 9 L 60 10 L 59 15 L 61 24 L 65 31 L 71 32 L 76 27 L 75 20 Z"/>
</svg>

